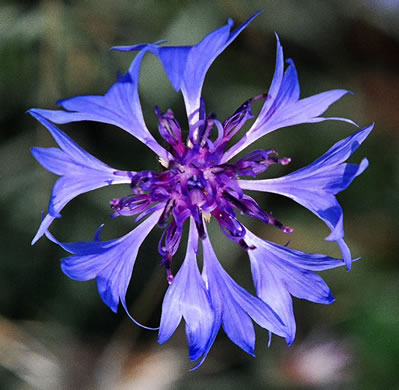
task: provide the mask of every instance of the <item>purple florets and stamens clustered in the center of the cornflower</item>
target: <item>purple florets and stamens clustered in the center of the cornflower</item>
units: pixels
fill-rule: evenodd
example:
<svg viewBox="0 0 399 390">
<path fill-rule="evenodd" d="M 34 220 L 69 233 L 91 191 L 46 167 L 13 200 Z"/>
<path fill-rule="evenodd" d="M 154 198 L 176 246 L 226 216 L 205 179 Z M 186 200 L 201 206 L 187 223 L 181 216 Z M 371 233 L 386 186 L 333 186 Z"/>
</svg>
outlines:
<svg viewBox="0 0 399 390">
<path fill-rule="evenodd" d="M 263 97 L 245 102 L 223 124 L 214 115 L 205 118 L 202 101 L 199 120 L 190 127 L 185 143 L 173 112 L 161 113 L 155 108 L 159 132 L 170 145 L 173 158 L 163 162 L 165 170 L 162 172 L 131 172 L 132 193 L 113 199 L 110 204 L 115 211 L 114 217 L 139 215 L 138 219 L 163 208 L 158 226 L 164 228 L 164 232 L 158 249 L 169 282 L 173 278 L 170 271 L 172 258 L 179 247 L 184 222 L 189 217 L 193 217 L 199 237 L 204 239 L 204 215 L 206 218 L 214 216 L 223 233 L 244 250 L 253 247 L 244 241 L 246 231 L 237 219 L 237 211 L 275 225 L 286 233 L 292 232 L 244 194 L 237 181 L 242 176 L 255 177 L 272 164 L 286 165 L 289 158 L 279 159 L 275 150 L 255 150 L 234 163 L 220 163 L 230 139 L 253 117 L 251 103 Z M 210 135 L 214 129 L 217 137 L 212 141 Z"/>
</svg>

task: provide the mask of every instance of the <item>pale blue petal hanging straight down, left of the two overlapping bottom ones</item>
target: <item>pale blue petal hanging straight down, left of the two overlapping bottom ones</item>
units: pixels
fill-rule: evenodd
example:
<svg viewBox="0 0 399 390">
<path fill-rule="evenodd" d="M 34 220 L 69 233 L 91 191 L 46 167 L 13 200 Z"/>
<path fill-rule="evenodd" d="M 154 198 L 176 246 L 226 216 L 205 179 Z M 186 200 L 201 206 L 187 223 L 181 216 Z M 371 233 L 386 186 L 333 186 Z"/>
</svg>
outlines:
<svg viewBox="0 0 399 390">
<path fill-rule="evenodd" d="M 191 219 L 186 257 L 165 294 L 158 338 L 159 343 L 166 342 L 184 317 L 192 361 L 206 352 L 214 323 L 208 292 L 197 265 L 197 244 L 198 234 Z"/>
</svg>

